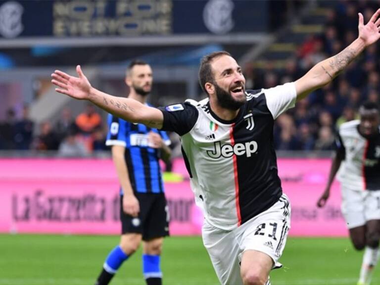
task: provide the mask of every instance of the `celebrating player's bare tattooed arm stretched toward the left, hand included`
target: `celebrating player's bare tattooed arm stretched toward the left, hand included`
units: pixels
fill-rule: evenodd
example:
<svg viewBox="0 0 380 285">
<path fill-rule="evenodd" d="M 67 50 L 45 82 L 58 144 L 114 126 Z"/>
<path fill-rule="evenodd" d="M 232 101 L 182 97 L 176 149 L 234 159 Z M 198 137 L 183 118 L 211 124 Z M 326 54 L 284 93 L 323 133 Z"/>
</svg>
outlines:
<svg viewBox="0 0 380 285">
<path fill-rule="evenodd" d="M 95 105 L 117 117 L 132 123 L 142 123 L 151 128 L 161 129 L 163 114 L 160 110 L 148 107 L 137 100 L 116 97 L 101 92 L 91 86 L 81 67 L 77 66 L 78 77 L 55 70 L 51 74 L 51 83 L 56 92 L 79 100 L 89 100 Z"/>
</svg>

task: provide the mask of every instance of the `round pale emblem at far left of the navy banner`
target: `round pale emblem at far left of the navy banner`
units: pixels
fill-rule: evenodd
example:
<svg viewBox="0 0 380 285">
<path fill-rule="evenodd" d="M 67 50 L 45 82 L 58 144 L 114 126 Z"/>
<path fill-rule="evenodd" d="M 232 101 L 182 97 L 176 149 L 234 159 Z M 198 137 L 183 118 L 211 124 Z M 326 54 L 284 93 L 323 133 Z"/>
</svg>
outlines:
<svg viewBox="0 0 380 285">
<path fill-rule="evenodd" d="M 0 6 L 0 34 L 4 38 L 15 38 L 23 31 L 23 11 L 24 8 L 15 1 L 5 2 Z"/>
</svg>

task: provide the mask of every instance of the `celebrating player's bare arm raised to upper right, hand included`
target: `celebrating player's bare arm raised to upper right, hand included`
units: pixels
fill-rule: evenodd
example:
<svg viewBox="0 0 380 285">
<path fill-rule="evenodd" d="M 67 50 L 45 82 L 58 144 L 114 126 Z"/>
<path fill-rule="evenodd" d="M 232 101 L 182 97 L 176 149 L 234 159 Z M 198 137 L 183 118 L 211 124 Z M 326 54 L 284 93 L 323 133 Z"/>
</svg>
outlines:
<svg viewBox="0 0 380 285">
<path fill-rule="evenodd" d="M 310 92 L 330 83 L 346 66 L 366 47 L 380 38 L 380 9 L 364 25 L 363 15 L 359 13 L 359 36 L 338 54 L 317 63 L 303 77 L 295 82 L 297 100 L 303 99 Z"/>
</svg>

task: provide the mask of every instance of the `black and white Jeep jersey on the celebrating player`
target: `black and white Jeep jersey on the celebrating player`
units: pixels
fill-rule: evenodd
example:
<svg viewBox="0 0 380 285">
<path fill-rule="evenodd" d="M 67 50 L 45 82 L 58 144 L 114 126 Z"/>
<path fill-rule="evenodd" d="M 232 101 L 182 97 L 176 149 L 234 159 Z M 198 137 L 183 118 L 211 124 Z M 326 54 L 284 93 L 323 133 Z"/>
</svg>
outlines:
<svg viewBox="0 0 380 285">
<path fill-rule="evenodd" d="M 233 230 L 282 194 L 273 145 L 274 120 L 294 106 L 294 83 L 246 92 L 232 121 L 218 118 L 208 98 L 160 108 L 163 130 L 181 136 L 195 202 L 214 227 Z"/>
</svg>

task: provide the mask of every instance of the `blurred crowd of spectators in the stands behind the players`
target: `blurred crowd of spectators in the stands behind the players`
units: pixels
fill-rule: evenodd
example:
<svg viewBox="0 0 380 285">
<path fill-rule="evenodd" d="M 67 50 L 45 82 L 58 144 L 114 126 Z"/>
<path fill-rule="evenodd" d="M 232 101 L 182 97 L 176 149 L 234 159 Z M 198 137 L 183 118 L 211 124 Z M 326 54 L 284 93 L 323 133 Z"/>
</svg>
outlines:
<svg viewBox="0 0 380 285">
<path fill-rule="evenodd" d="M 359 11 L 364 11 L 366 22 L 377 8 L 377 1 L 337 1 L 335 9 L 329 11 L 323 33 L 310 36 L 298 47 L 285 68 L 276 69 L 269 64 L 261 70 L 247 64 L 244 67 L 246 89 L 270 88 L 300 78 L 314 64 L 336 54 L 356 38 Z M 277 119 L 276 149 L 334 148 L 336 127 L 356 119 L 358 106 L 363 101 L 379 102 L 379 45 L 367 48 L 332 84 L 313 92 Z M 101 116 L 87 106 L 76 118 L 65 108 L 56 124 L 43 122 L 39 131 L 34 132 L 28 106 L 24 106 L 19 118 L 9 109 L 5 120 L 0 122 L 0 150 L 57 150 L 62 156 L 86 156 L 106 149 L 104 126 Z"/>
</svg>

